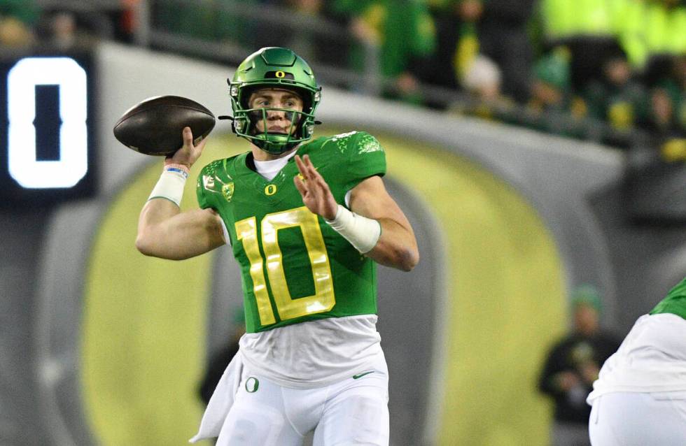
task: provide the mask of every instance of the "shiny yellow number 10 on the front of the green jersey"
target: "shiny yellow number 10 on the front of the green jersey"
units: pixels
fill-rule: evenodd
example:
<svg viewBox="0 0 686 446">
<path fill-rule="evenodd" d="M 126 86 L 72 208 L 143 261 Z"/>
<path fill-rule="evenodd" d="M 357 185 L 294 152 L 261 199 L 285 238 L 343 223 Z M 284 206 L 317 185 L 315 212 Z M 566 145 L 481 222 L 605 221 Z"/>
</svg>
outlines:
<svg viewBox="0 0 686 446">
<path fill-rule="evenodd" d="M 300 226 L 305 249 L 314 276 L 314 295 L 291 298 L 283 272 L 283 255 L 279 247 L 279 229 Z M 326 254 L 324 239 L 317 216 L 306 207 L 267 214 L 262 219 L 262 250 L 265 252 L 267 275 L 276 310 L 281 320 L 293 319 L 304 315 L 325 312 L 333 308 L 336 299 L 333 293 L 333 280 L 329 258 Z M 243 248 L 250 261 L 250 277 L 253 280 L 253 291 L 257 300 L 258 313 L 262 325 L 274 324 L 274 312 L 269 303 L 267 280 L 265 279 L 265 258 L 260 254 L 255 217 L 236 222 L 238 240 L 243 240 Z"/>
</svg>

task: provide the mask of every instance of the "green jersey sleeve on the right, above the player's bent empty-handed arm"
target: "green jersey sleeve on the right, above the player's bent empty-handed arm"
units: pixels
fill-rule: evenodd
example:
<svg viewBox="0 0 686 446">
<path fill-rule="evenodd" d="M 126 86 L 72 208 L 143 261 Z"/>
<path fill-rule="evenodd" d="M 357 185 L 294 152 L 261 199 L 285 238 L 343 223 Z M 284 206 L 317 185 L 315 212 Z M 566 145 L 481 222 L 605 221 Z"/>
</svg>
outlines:
<svg viewBox="0 0 686 446">
<path fill-rule="evenodd" d="M 386 174 L 386 152 L 374 136 L 364 131 L 357 132 L 346 149 L 346 189 L 352 189 L 365 178 Z"/>
</svg>

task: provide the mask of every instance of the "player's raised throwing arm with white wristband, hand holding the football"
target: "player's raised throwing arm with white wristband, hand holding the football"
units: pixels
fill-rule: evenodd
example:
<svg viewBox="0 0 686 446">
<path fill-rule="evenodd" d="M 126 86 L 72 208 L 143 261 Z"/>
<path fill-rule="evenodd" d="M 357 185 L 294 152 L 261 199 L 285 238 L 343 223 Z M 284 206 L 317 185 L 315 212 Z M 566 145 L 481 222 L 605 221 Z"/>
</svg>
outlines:
<svg viewBox="0 0 686 446">
<path fill-rule="evenodd" d="M 193 134 L 183 129 L 183 148 L 165 159 L 165 166 L 181 166 L 181 171 L 200 157 L 205 141 L 193 145 Z M 171 175 L 180 175 L 174 177 Z M 165 178 L 167 175 L 167 178 Z M 148 256 L 181 260 L 204 254 L 225 244 L 219 215 L 211 209 L 181 212 L 178 206 L 185 180 L 183 172 L 165 172 L 151 199 L 143 206 L 138 221 L 136 247 Z M 155 197 L 155 198 L 153 198 Z"/>
</svg>

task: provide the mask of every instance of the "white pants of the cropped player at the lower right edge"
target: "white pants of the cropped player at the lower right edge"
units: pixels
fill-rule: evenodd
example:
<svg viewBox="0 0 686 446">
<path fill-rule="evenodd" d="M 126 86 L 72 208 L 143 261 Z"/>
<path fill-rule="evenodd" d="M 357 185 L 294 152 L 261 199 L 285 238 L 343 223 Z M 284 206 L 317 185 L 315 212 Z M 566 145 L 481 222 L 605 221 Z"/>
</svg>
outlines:
<svg viewBox="0 0 686 446">
<path fill-rule="evenodd" d="M 598 396 L 589 418 L 593 446 L 686 445 L 686 392 Z"/>
</svg>

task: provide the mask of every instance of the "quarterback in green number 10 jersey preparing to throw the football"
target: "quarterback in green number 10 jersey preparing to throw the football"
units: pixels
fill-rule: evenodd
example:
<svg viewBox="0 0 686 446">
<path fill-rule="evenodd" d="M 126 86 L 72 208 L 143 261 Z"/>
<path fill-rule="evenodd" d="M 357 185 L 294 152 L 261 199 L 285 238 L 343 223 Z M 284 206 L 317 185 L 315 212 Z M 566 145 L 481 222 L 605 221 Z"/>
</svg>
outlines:
<svg viewBox="0 0 686 446">
<path fill-rule="evenodd" d="M 384 187 L 386 158 L 363 131 L 313 139 L 321 87 L 304 59 L 262 48 L 229 80 L 249 151 L 202 168 L 200 209 L 181 212 L 205 141 L 183 130 L 139 217 L 138 249 L 186 259 L 230 245 L 246 334 L 192 441 L 388 445 L 388 370 L 376 263 L 410 271 L 412 226 Z"/>
</svg>

